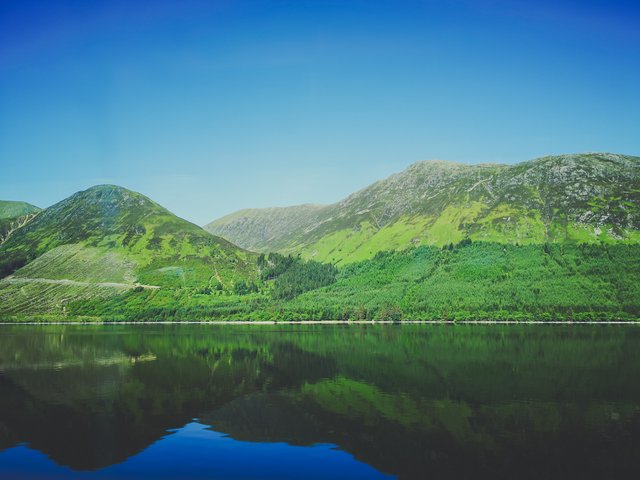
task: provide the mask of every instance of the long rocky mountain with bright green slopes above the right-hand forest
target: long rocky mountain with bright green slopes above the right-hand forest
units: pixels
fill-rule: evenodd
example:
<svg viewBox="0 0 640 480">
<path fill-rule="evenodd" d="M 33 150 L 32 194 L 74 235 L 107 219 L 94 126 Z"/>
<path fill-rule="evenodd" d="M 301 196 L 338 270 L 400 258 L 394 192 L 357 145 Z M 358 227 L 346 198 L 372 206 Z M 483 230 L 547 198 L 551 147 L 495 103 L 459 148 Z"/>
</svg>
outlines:
<svg viewBox="0 0 640 480">
<path fill-rule="evenodd" d="M 207 229 L 231 242 L 269 229 L 251 247 L 345 263 L 414 245 L 474 241 L 637 242 L 640 157 L 590 153 L 516 165 L 418 162 L 344 200 L 232 214 Z M 289 221 L 287 214 L 294 217 Z M 250 218 L 250 221 L 249 221 Z"/>
</svg>

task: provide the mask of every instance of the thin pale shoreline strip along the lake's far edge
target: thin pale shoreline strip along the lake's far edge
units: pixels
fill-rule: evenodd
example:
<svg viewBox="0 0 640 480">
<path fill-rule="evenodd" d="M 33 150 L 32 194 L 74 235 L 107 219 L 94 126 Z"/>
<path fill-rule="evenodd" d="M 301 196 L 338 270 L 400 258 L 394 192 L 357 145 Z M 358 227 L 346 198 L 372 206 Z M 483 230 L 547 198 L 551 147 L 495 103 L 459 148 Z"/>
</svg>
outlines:
<svg viewBox="0 0 640 480">
<path fill-rule="evenodd" d="M 640 325 L 638 320 L 612 320 L 584 322 L 569 320 L 184 320 L 184 321 L 158 321 L 158 322 L 133 322 L 133 321 L 43 321 L 43 322 L 1 322 L 5 325 Z"/>
</svg>

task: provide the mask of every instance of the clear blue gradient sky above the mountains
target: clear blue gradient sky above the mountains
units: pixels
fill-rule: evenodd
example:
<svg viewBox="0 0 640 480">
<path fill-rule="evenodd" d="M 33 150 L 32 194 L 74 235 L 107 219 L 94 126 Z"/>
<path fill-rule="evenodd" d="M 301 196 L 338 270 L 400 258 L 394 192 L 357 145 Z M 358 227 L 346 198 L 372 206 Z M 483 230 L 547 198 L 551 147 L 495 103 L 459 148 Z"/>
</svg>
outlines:
<svg viewBox="0 0 640 480">
<path fill-rule="evenodd" d="M 98 183 L 203 224 L 417 160 L 640 155 L 640 6 L 0 0 L 0 198 Z"/>
</svg>

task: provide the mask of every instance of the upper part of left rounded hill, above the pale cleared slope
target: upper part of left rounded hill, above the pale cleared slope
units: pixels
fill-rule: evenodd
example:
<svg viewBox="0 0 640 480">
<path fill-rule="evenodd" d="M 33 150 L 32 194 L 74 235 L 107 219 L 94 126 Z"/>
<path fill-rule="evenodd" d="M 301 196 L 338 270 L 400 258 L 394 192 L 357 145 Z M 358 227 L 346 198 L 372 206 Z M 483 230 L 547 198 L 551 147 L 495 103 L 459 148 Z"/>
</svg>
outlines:
<svg viewBox="0 0 640 480">
<path fill-rule="evenodd" d="M 0 245 L 0 274 L 12 273 L 42 254 L 69 245 L 119 252 L 138 266 L 160 258 L 184 260 L 187 255 L 201 259 L 196 262 L 200 266 L 216 255 L 238 265 L 243 262 L 236 246 L 146 196 L 118 185 L 96 185 L 52 205 L 15 230 Z M 232 260 L 218 261 L 235 268 Z"/>
</svg>

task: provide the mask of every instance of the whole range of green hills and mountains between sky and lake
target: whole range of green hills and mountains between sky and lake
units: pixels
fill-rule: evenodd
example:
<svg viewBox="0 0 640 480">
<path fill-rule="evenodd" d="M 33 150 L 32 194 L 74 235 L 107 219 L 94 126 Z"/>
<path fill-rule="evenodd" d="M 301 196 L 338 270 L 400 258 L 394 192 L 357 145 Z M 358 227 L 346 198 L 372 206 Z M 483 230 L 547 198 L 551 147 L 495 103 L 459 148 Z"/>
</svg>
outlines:
<svg viewBox="0 0 640 480">
<path fill-rule="evenodd" d="M 0 202 L 0 321 L 640 318 L 640 157 L 426 161 L 200 227 L 114 185 Z"/>
</svg>

